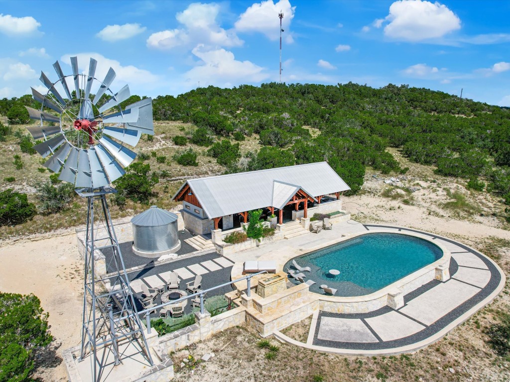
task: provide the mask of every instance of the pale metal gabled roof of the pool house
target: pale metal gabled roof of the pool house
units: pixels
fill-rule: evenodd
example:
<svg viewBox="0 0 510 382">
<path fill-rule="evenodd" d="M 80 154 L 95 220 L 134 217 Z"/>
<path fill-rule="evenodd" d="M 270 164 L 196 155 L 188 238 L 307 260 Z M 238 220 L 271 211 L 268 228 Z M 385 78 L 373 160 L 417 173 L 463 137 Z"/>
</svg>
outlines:
<svg viewBox="0 0 510 382">
<path fill-rule="evenodd" d="M 314 198 L 350 189 L 327 162 L 190 179 L 172 199 L 186 184 L 210 219 L 269 206 L 282 208 L 281 202 L 289 197 L 292 187 Z"/>
</svg>

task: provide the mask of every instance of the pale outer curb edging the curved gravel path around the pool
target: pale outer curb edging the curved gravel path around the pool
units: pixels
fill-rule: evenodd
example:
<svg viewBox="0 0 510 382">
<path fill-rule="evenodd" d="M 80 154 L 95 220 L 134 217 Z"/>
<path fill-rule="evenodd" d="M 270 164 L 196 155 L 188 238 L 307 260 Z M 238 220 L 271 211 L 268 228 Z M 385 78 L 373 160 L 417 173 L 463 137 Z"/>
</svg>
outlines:
<svg viewBox="0 0 510 382">
<path fill-rule="evenodd" d="M 313 341 L 314 341 L 314 339 L 316 337 L 316 334 L 317 334 L 317 324 L 320 321 L 319 315 L 322 312 L 320 310 L 316 310 L 314 312 L 314 314 L 313 314 L 312 324 L 311 324 L 311 327 L 310 327 L 307 343 L 296 341 L 296 340 L 294 340 L 294 339 L 284 335 L 280 331 L 274 331 L 273 332 L 273 334 L 274 334 L 274 336 L 276 338 L 278 338 L 279 340 L 281 340 L 283 342 L 291 343 L 291 344 L 296 345 L 296 346 L 301 346 L 301 347 L 309 348 L 309 349 L 316 350 L 316 351 L 336 353 L 336 354 L 346 354 L 346 355 L 347 354 L 358 354 L 358 355 L 364 355 L 364 356 L 378 356 L 378 355 L 382 355 L 382 354 L 384 354 L 384 355 L 391 355 L 391 354 L 399 354 L 399 353 L 404 353 L 404 352 L 413 352 L 413 351 L 417 351 L 419 349 L 422 349 L 422 348 L 424 348 L 424 347 L 426 347 L 426 346 L 428 346 L 428 345 L 430 345 L 430 344 L 440 340 L 446 334 L 448 334 L 453 329 L 455 329 L 457 326 L 459 326 L 459 325 L 463 324 L 464 322 L 466 322 L 477 311 L 479 311 L 480 309 L 486 307 L 488 304 L 493 302 L 494 299 L 497 297 L 497 295 L 504 288 L 504 285 L 505 285 L 505 282 L 506 282 L 506 277 L 505 277 L 505 274 L 502 271 L 502 269 L 498 266 L 498 264 L 496 264 L 492 259 L 490 259 L 486 255 L 483 255 L 480 252 L 478 252 L 477 250 L 475 250 L 474 248 L 469 247 L 469 245 L 466 245 L 464 243 L 461 243 L 461 242 L 458 242 L 458 241 L 446 238 L 444 236 L 428 233 L 428 232 L 425 232 L 425 231 L 418 231 L 418 230 L 414 230 L 414 229 L 411 229 L 411 228 L 405 228 L 405 227 L 401 227 L 401 226 L 377 225 L 377 224 L 364 224 L 363 226 L 367 229 L 367 231 L 369 231 L 369 229 L 367 227 L 377 227 L 377 228 L 382 228 L 382 229 L 390 228 L 390 229 L 399 229 L 399 230 L 402 229 L 402 230 L 409 231 L 409 232 L 414 232 L 414 233 L 418 233 L 418 234 L 427 235 L 427 236 L 432 237 L 434 239 L 439 238 L 439 239 L 445 240 L 447 242 L 450 242 L 450 243 L 452 243 L 454 245 L 457 245 L 460 248 L 466 249 L 467 250 L 466 252 L 470 252 L 470 253 L 476 255 L 484 263 L 486 263 L 486 264 L 490 263 L 490 265 L 492 267 L 494 267 L 494 269 L 499 273 L 499 275 L 498 275 L 499 276 L 499 283 L 497 284 L 497 286 L 495 286 L 493 288 L 492 292 L 490 292 L 481 301 L 473 304 L 467 311 L 464 311 L 462 314 L 460 314 L 457 317 L 453 318 L 449 323 L 447 323 L 445 326 L 443 326 L 437 332 L 431 334 L 430 336 L 428 336 L 428 337 L 426 337 L 426 338 L 424 338 L 424 339 L 422 339 L 420 341 L 412 342 L 412 343 L 409 343 L 409 344 L 403 344 L 401 346 L 395 346 L 395 347 L 390 347 L 390 348 L 382 348 L 382 349 L 375 349 L 375 348 L 373 348 L 373 349 L 350 349 L 350 348 L 346 348 L 346 347 L 330 347 L 330 346 L 314 345 Z M 375 232 L 375 230 L 374 231 L 370 231 L 370 232 Z M 385 232 L 388 232 L 388 231 L 385 231 Z M 439 243 L 436 243 L 436 244 L 439 244 Z M 467 304 L 472 298 L 475 298 L 479 293 L 487 290 L 487 288 L 491 284 L 491 281 L 492 281 L 493 277 L 495 277 L 495 275 L 493 274 L 493 271 L 490 269 L 490 267 L 488 267 L 488 268 L 491 271 L 491 279 L 490 279 L 490 281 L 484 287 L 480 288 L 480 290 L 475 295 L 473 295 L 472 297 L 466 299 L 461 305 L 458 305 L 457 307 L 455 307 L 452 310 L 450 310 L 447 314 L 445 314 L 444 316 L 439 318 L 437 321 L 435 321 L 435 322 L 431 323 L 430 325 L 426 326 L 426 328 L 430 328 L 430 326 L 435 325 L 436 322 L 444 319 L 446 316 L 451 314 L 455 309 L 459 309 L 464 304 Z M 391 342 L 391 341 L 386 341 L 386 342 Z"/>
</svg>

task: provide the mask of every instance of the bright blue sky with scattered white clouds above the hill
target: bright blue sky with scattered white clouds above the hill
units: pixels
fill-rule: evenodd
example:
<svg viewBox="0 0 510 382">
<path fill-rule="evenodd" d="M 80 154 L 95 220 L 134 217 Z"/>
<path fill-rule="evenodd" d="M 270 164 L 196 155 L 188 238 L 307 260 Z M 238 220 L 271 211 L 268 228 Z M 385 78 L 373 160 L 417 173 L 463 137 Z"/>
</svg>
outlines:
<svg viewBox="0 0 510 382">
<path fill-rule="evenodd" d="M 98 60 L 113 90 L 177 95 L 282 80 L 425 87 L 510 106 L 510 2 L 0 1 L 0 97 Z"/>
</svg>

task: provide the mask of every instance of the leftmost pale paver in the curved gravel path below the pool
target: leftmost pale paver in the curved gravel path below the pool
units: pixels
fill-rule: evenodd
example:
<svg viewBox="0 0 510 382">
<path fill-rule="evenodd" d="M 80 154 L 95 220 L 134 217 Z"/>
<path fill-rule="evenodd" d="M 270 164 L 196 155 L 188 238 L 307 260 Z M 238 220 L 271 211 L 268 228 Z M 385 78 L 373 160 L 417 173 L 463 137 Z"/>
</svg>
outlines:
<svg viewBox="0 0 510 382">
<path fill-rule="evenodd" d="M 378 342 L 360 319 L 323 317 L 317 338 L 339 342 Z"/>
</svg>

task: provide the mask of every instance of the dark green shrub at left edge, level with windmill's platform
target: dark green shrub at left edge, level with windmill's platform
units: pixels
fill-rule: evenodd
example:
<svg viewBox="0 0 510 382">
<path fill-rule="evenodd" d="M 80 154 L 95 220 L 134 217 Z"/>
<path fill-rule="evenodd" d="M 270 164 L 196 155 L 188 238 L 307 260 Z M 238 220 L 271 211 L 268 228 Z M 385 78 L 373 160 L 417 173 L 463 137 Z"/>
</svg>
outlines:
<svg viewBox="0 0 510 382">
<path fill-rule="evenodd" d="M 0 192 L 0 226 L 24 223 L 35 214 L 35 205 L 29 203 L 27 194 L 14 192 L 11 188 Z"/>
</svg>

